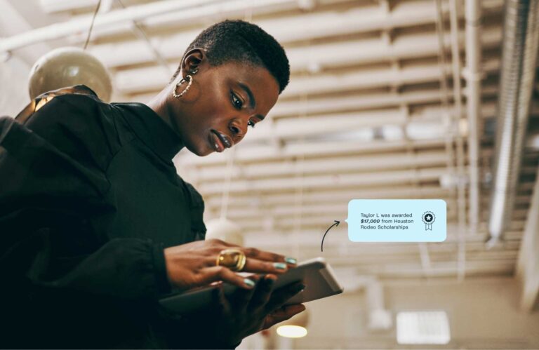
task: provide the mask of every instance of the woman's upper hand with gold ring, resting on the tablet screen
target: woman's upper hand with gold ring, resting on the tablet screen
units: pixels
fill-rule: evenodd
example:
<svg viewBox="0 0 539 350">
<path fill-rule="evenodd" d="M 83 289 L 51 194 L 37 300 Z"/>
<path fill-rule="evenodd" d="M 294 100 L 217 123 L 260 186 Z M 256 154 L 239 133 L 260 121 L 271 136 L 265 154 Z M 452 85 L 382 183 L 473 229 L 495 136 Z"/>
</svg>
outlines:
<svg viewBox="0 0 539 350">
<path fill-rule="evenodd" d="M 244 248 L 218 239 L 196 241 L 165 249 L 165 262 L 168 282 L 175 288 L 187 290 L 215 281 L 223 281 L 241 288 L 253 288 L 253 282 L 236 274 L 227 267 L 217 266 L 221 250 L 239 249 L 247 260 L 242 272 L 260 274 L 283 274 L 288 268 L 295 267 L 295 260 L 283 255 Z"/>
</svg>

